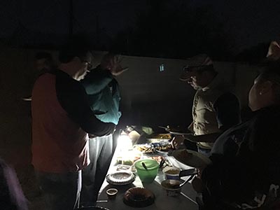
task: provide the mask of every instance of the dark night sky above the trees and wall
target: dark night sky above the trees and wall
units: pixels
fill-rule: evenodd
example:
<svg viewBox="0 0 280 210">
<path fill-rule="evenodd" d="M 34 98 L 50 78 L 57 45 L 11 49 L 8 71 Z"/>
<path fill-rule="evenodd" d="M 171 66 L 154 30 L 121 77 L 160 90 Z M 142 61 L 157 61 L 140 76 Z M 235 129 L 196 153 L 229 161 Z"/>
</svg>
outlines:
<svg viewBox="0 0 280 210">
<path fill-rule="evenodd" d="M 173 0 L 179 2 L 179 0 Z M 181 0 L 186 1 L 186 0 Z M 133 25 L 135 13 L 145 10 L 146 0 L 74 0 L 76 31 L 108 36 Z M 190 0 L 193 6 L 211 3 L 215 13 L 227 24 L 235 38 L 235 50 L 260 42 L 280 39 L 279 0 Z M 68 33 L 68 0 L 10 0 L 0 1 L 0 37 L 10 36 L 22 22 L 27 29 L 44 33 Z M 98 21 L 97 21 L 98 20 Z"/>
</svg>

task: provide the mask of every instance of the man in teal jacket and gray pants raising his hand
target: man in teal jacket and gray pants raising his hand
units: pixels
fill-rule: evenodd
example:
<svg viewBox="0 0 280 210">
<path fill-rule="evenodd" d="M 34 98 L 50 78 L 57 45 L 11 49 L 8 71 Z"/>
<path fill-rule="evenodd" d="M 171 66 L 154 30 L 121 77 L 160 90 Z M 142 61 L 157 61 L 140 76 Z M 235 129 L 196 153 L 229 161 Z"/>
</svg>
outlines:
<svg viewBox="0 0 280 210">
<path fill-rule="evenodd" d="M 95 116 L 104 123 L 118 124 L 120 91 L 116 76 L 127 69 L 120 65 L 118 55 L 106 54 L 96 69 L 81 81 L 87 92 L 90 107 Z M 81 203 L 94 205 L 99 189 L 105 179 L 113 155 L 112 134 L 90 137 L 90 165 L 83 170 Z M 97 175 L 98 174 L 98 175 Z"/>
</svg>

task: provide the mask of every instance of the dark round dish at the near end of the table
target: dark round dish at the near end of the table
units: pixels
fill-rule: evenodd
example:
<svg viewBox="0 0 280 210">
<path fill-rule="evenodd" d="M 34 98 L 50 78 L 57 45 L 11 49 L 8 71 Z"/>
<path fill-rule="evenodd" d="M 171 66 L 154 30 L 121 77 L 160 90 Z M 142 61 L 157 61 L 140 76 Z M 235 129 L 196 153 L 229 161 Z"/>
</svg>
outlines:
<svg viewBox="0 0 280 210">
<path fill-rule="evenodd" d="M 130 207 L 148 207 L 155 201 L 155 195 L 146 188 L 130 188 L 125 192 L 123 202 Z"/>
</svg>

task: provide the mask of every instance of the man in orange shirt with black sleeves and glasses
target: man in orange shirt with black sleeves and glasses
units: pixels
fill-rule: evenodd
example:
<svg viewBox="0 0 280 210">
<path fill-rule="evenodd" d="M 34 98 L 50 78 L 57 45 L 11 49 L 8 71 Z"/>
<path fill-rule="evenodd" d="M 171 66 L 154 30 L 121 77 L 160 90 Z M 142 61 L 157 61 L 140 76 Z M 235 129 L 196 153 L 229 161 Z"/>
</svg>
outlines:
<svg viewBox="0 0 280 210">
<path fill-rule="evenodd" d="M 46 209 L 78 207 L 81 169 L 90 163 L 87 133 L 99 137 L 116 127 L 94 116 L 78 82 L 90 67 L 85 46 L 71 42 L 60 50 L 58 69 L 43 73 L 32 91 L 32 164 Z"/>
</svg>

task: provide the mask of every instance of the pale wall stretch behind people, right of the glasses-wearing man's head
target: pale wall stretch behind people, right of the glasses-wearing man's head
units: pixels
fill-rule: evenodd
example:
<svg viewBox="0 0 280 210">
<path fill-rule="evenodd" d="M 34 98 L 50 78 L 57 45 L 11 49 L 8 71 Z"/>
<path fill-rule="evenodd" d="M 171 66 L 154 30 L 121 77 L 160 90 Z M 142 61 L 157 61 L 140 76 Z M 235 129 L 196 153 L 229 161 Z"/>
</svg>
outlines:
<svg viewBox="0 0 280 210">
<path fill-rule="evenodd" d="M 94 53 L 97 62 L 100 57 L 100 52 Z M 164 71 L 160 71 L 161 64 Z M 118 77 L 123 110 L 120 124 L 188 125 L 195 91 L 179 80 L 186 64 L 182 59 L 123 56 L 123 66 L 130 69 Z M 214 62 L 214 67 L 246 110 L 248 91 L 258 72 L 248 64 L 233 62 Z"/>
</svg>

